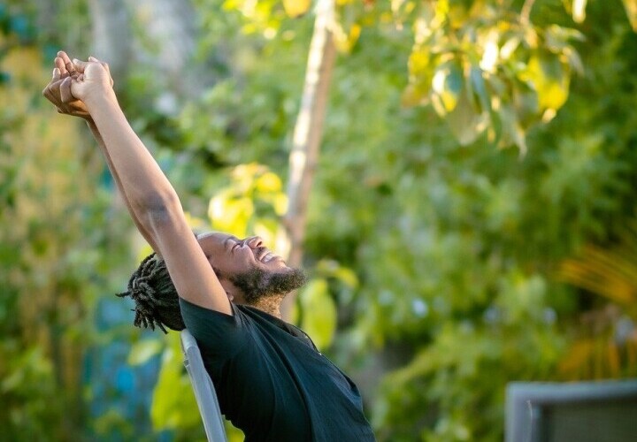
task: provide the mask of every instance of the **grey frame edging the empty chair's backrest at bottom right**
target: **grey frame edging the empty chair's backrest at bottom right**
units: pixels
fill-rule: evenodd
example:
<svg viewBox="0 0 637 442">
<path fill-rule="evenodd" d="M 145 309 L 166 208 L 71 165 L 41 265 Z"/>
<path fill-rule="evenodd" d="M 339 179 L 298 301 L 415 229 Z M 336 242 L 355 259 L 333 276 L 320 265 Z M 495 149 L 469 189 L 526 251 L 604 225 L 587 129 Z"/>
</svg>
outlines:
<svg viewBox="0 0 637 442">
<path fill-rule="evenodd" d="M 600 400 L 637 400 L 637 379 L 597 382 L 513 382 L 506 392 L 506 442 L 542 442 L 542 408 Z"/>
</svg>

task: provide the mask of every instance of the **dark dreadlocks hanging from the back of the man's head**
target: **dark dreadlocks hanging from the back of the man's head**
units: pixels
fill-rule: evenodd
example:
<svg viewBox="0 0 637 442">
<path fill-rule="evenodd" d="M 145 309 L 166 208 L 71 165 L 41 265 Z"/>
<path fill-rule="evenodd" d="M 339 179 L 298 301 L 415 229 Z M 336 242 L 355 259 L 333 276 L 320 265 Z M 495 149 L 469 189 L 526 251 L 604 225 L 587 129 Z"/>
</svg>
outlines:
<svg viewBox="0 0 637 442">
<path fill-rule="evenodd" d="M 128 281 L 128 290 L 118 293 L 119 297 L 130 296 L 135 303 L 136 327 L 155 326 L 167 333 L 165 327 L 183 330 L 186 325 L 181 318 L 179 297 L 168 274 L 164 260 L 153 253 L 142 261 Z"/>
</svg>

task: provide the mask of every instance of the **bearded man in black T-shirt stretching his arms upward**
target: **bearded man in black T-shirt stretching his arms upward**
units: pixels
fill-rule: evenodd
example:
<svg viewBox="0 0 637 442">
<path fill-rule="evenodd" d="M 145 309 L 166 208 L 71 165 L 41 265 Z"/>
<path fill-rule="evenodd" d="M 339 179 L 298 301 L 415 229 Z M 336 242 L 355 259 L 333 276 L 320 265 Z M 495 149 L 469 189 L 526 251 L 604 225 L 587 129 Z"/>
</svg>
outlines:
<svg viewBox="0 0 637 442">
<path fill-rule="evenodd" d="M 357 386 L 300 329 L 280 320 L 280 301 L 303 285 L 262 240 L 219 232 L 199 237 L 150 152 L 129 126 L 108 65 L 55 59 L 45 95 L 58 112 L 85 118 L 135 225 L 155 253 L 126 293 L 134 324 L 188 330 L 221 411 L 248 441 L 374 440 Z"/>
</svg>

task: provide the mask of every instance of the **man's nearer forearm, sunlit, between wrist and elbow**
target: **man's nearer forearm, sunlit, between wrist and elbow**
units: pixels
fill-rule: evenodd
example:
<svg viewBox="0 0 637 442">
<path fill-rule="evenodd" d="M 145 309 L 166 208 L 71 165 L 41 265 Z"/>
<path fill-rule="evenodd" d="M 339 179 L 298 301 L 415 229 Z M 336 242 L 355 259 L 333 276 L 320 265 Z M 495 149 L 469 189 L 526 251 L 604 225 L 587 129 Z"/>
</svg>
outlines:
<svg viewBox="0 0 637 442">
<path fill-rule="evenodd" d="M 86 100 L 104 143 L 111 170 L 127 197 L 128 209 L 150 238 L 150 216 L 157 210 L 180 209 L 179 199 L 164 172 L 128 124 L 114 93 Z"/>
</svg>

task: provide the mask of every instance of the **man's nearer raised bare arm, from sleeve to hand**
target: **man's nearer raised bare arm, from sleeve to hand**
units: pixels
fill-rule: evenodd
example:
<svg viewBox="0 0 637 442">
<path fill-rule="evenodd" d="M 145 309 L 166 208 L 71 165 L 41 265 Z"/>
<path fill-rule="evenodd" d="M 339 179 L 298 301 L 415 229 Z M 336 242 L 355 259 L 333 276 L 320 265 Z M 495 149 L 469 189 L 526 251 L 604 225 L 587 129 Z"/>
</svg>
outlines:
<svg viewBox="0 0 637 442">
<path fill-rule="evenodd" d="M 70 87 L 85 103 L 128 210 L 164 258 L 180 297 L 231 315 L 226 292 L 188 226 L 178 195 L 119 108 L 109 72 L 96 61 L 73 60 L 73 66 L 77 78 L 65 78 L 60 90 Z"/>
</svg>

